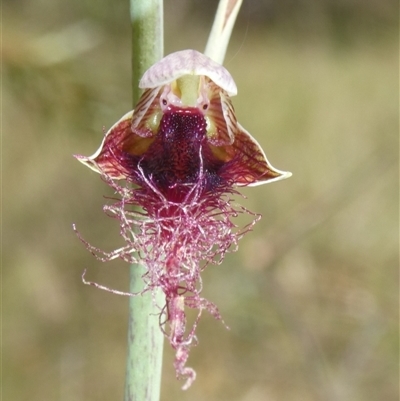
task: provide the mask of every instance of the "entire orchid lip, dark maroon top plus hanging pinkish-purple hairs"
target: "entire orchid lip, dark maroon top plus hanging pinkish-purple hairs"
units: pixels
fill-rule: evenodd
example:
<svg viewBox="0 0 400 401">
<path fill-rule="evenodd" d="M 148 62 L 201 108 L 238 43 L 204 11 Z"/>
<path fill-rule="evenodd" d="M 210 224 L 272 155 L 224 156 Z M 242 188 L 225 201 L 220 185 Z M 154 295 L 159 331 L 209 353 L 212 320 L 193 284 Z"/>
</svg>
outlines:
<svg viewBox="0 0 400 401">
<path fill-rule="evenodd" d="M 234 203 L 238 193 L 232 183 L 241 173 L 240 163 L 222 163 L 213 155 L 206 121 L 196 109 L 171 108 L 144 154 L 122 151 L 115 163 L 130 174 L 125 184 L 103 176 L 120 197 L 104 210 L 119 220 L 125 245 L 106 253 L 81 240 L 102 261 L 121 258 L 142 264 L 146 270 L 142 293 L 163 291 L 165 304 L 158 305 L 161 329 L 176 351 L 176 374 L 186 379 L 184 388 L 188 388 L 195 372 L 185 365 L 197 341 L 200 315 L 207 310 L 221 319 L 217 307 L 201 297 L 200 274 L 208 264 L 219 264 L 227 252 L 236 251 L 239 239 L 260 216 Z M 233 222 L 240 214 L 251 217 L 244 228 Z M 189 329 L 186 308 L 198 310 Z"/>
</svg>

